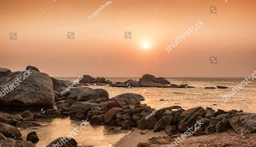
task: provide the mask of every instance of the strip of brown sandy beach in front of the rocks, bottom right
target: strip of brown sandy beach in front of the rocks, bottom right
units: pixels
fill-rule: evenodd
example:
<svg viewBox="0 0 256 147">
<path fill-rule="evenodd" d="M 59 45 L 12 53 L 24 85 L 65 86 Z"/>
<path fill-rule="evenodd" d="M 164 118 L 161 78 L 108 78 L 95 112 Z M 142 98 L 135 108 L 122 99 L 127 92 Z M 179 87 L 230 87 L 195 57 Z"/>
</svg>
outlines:
<svg viewBox="0 0 256 147">
<path fill-rule="evenodd" d="M 140 132 L 146 132 L 146 134 L 140 135 Z M 135 128 L 134 131 L 130 132 L 119 141 L 113 143 L 112 146 L 167 147 L 167 145 L 173 143 L 175 139 L 176 138 L 167 137 L 165 131 L 140 131 Z M 137 146 L 139 143 L 144 144 Z M 215 133 L 212 135 L 191 136 L 189 138 L 185 138 L 181 143 L 177 145 L 177 147 L 256 147 L 256 133 L 241 136 L 240 134 L 237 134 L 233 129 L 228 129 L 227 132 Z"/>
</svg>

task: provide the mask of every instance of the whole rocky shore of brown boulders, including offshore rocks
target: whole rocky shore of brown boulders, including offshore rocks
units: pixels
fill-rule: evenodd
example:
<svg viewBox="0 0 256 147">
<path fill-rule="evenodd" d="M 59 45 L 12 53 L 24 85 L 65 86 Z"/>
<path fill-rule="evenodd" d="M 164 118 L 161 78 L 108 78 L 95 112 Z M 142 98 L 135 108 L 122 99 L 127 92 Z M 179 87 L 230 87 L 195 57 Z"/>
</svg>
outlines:
<svg viewBox="0 0 256 147">
<path fill-rule="evenodd" d="M 18 86 L 13 84 L 27 71 L 30 71 L 31 74 L 26 78 L 21 78 L 22 82 Z M 120 126 L 121 130 L 132 131 L 133 128 L 137 128 L 137 130 L 147 130 L 152 133 L 165 131 L 165 135 L 161 138 L 153 138 L 150 143 L 139 142 L 137 147 L 154 147 L 154 143 L 152 143 L 154 140 L 155 144 L 166 147 L 173 142 L 170 138 L 181 136 L 198 122 L 202 124 L 196 131 L 193 131 L 193 136 L 221 134 L 228 130 L 233 130 L 233 133 L 238 135 L 256 133 L 256 114 L 245 113 L 242 110 L 218 109 L 215 111 L 210 107 L 202 108 L 201 106 L 188 110 L 179 106 L 154 109 L 146 104 L 141 105 L 140 101 L 145 100 L 141 95 L 124 93 L 109 98 L 108 91 L 91 89 L 88 86 L 96 84 L 112 87 L 192 88 L 186 84 L 171 84 L 165 78 L 155 78 L 153 75 L 145 74 L 139 81 L 128 80 L 127 82 L 113 83 L 105 78 L 83 75 L 79 84 L 75 84 L 69 91 L 61 94 L 72 83 L 52 78 L 46 73 L 41 73 L 34 66 L 27 66 L 26 70 L 22 72 L 11 72 L 9 69 L 0 68 L 1 111 L 24 110 L 23 113 L 16 115 L 0 113 L 1 146 L 36 147 L 34 143 L 39 140 L 37 133 L 21 134 L 18 128 L 39 126 L 40 124 L 34 122 L 36 119 L 50 116 L 67 116 L 70 119 L 87 120 L 91 125 Z M 7 89 L 10 88 L 10 85 L 15 88 Z M 217 86 L 217 88 L 226 87 Z M 30 112 L 41 109 L 44 111 Z M 141 135 L 143 133 L 147 132 L 142 132 Z M 22 135 L 27 135 L 26 140 L 22 139 Z M 164 140 L 166 144 L 160 143 L 159 140 Z M 61 138 L 51 141 L 47 147 L 52 147 L 53 144 L 60 142 Z M 62 147 L 78 146 L 77 142 L 71 139 Z"/>
</svg>

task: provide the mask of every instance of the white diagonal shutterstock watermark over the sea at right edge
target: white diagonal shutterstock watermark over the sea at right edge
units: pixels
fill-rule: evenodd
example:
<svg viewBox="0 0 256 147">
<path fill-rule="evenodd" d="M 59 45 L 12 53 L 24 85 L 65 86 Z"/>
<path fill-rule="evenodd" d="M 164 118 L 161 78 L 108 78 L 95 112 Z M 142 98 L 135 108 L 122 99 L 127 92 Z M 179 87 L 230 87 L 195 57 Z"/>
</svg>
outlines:
<svg viewBox="0 0 256 147">
<path fill-rule="evenodd" d="M 240 84 L 238 84 L 238 86 L 234 86 L 234 88 L 232 88 L 232 90 L 231 90 L 231 92 L 233 93 L 233 94 L 230 94 L 230 92 L 229 92 L 229 94 L 227 94 L 227 95 L 225 95 L 224 94 L 224 97 L 222 98 L 222 100 L 224 101 L 224 103 L 226 103 L 227 102 L 227 100 L 229 99 L 229 98 L 231 98 L 235 93 L 237 93 L 239 90 L 242 90 L 245 86 L 247 86 L 248 85 L 248 83 L 251 83 L 250 81 L 248 81 L 248 79 L 249 80 L 251 80 L 251 81 L 253 81 L 254 80 L 254 78 L 256 78 L 256 76 L 254 76 L 254 74 L 256 74 L 256 71 L 254 70 L 254 73 L 252 74 L 252 79 L 251 79 L 251 77 L 249 76 L 248 78 L 245 78 L 245 80 L 243 81 L 243 82 L 241 82 Z M 245 85 L 244 85 L 244 84 Z M 238 89 L 237 89 L 238 88 Z M 237 91 L 236 91 L 236 90 Z M 228 97 L 229 98 L 228 98 Z"/>
</svg>

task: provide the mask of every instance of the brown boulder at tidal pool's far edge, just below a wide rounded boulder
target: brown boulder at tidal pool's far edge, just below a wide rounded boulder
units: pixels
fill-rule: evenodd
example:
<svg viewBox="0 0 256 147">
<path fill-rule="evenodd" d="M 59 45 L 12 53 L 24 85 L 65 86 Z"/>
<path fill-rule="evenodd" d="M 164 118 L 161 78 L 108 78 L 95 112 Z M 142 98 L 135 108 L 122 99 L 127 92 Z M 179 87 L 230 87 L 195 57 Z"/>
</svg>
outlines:
<svg viewBox="0 0 256 147">
<path fill-rule="evenodd" d="M 84 116 L 87 116 L 88 112 L 91 110 L 91 107 L 95 105 L 87 102 L 76 102 L 70 108 L 70 116 L 74 117 L 75 114 L 81 113 Z"/>
</svg>

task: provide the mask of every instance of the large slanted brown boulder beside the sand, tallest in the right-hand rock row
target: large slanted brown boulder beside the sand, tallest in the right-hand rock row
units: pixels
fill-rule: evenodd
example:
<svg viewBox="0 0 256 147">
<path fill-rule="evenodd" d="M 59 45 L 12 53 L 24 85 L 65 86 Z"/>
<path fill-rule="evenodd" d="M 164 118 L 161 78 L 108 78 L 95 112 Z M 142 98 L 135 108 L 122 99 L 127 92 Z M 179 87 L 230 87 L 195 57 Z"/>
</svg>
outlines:
<svg viewBox="0 0 256 147">
<path fill-rule="evenodd" d="M 194 126 L 197 118 L 204 115 L 204 111 L 204 108 L 201 106 L 185 110 L 179 117 L 179 130 L 186 131 Z"/>
</svg>

